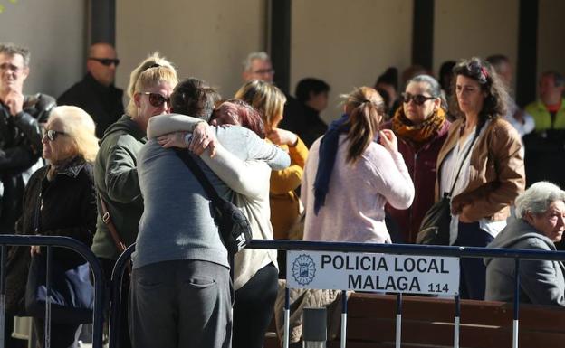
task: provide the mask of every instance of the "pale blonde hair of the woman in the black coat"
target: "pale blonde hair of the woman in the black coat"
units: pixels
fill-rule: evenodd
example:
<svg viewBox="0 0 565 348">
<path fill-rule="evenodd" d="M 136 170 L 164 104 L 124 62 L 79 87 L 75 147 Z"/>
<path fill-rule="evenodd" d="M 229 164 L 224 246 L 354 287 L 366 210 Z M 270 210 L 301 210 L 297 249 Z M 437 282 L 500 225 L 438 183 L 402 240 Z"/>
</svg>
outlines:
<svg viewBox="0 0 565 348">
<path fill-rule="evenodd" d="M 96 125 L 86 111 L 71 106 L 56 107 L 49 116 L 49 123 L 61 125 L 62 131 L 71 139 L 76 155 L 94 162 L 99 148 Z"/>
</svg>

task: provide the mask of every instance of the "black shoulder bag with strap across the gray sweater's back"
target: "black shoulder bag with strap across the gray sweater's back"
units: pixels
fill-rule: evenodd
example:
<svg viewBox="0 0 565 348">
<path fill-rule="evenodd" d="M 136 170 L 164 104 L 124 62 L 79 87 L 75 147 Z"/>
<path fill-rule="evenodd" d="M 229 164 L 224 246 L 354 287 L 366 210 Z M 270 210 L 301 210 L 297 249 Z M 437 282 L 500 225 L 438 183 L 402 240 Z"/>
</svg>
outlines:
<svg viewBox="0 0 565 348">
<path fill-rule="evenodd" d="M 175 149 L 175 151 L 190 171 L 195 174 L 196 179 L 198 179 L 208 198 L 212 201 L 215 214 L 214 220 L 220 231 L 220 237 L 224 242 L 225 249 L 230 254 L 235 254 L 244 249 L 252 239 L 251 225 L 244 213 L 232 202 L 220 197 L 212 183 L 206 178 L 202 168 L 188 155 L 187 150 Z"/>
</svg>

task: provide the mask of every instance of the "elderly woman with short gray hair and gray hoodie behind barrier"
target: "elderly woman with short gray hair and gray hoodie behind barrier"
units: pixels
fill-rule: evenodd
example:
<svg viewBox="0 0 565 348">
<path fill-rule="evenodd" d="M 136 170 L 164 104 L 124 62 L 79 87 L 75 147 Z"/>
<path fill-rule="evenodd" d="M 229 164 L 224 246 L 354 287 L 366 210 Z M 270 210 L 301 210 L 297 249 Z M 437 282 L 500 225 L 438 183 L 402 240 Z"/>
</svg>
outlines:
<svg viewBox="0 0 565 348">
<path fill-rule="evenodd" d="M 555 250 L 565 230 L 565 192 L 553 183 L 539 182 L 516 199 L 512 219 L 488 248 Z M 511 302 L 514 260 L 485 258 L 485 299 Z M 523 260 L 520 263 L 520 302 L 565 306 L 565 268 L 560 261 Z"/>
</svg>

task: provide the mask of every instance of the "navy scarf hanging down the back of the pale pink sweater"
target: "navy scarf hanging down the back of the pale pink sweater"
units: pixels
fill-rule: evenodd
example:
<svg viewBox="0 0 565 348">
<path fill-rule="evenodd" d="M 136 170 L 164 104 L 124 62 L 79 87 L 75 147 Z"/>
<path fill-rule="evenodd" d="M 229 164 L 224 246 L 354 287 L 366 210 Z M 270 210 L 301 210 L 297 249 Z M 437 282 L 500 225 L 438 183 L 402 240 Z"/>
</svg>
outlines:
<svg viewBox="0 0 565 348">
<path fill-rule="evenodd" d="M 340 119 L 331 122 L 328 131 L 321 138 L 318 172 L 314 181 L 314 212 L 316 215 L 326 201 L 326 194 L 330 188 L 331 171 L 340 145 L 340 134 L 350 131 L 349 119 L 348 115 L 343 115 Z"/>
</svg>

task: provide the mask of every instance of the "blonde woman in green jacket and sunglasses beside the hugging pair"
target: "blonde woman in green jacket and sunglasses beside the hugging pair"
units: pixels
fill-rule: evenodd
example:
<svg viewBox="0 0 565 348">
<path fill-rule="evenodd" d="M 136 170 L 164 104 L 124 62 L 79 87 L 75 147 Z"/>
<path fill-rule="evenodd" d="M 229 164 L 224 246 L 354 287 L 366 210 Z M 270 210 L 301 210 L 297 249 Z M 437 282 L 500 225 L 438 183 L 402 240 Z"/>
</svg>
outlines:
<svg viewBox="0 0 565 348">
<path fill-rule="evenodd" d="M 126 247 L 135 242 L 139 219 L 143 213 L 137 164 L 139 150 L 147 142 L 148 120 L 168 113 L 169 97 L 176 85 L 177 71 L 158 53 L 141 61 L 129 78 L 127 114 L 106 129 L 101 140 L 101 151 L 94 165 L 94 181 L 100 199 L 106 203 L 111 220 Z M 98 212 L 91 249 L 101 260 L 106 279 L 110 280 L 120 250 L 112 239 L 108 226 L 102 221 L 101 202 L 98 203 Z M 124 292 L 127 294 L 127 289 Z M 126 301 L 122 301 L 122 348 L 130 345 L 126 330 L 126 304 Z"/>
</svg>

